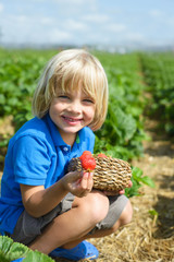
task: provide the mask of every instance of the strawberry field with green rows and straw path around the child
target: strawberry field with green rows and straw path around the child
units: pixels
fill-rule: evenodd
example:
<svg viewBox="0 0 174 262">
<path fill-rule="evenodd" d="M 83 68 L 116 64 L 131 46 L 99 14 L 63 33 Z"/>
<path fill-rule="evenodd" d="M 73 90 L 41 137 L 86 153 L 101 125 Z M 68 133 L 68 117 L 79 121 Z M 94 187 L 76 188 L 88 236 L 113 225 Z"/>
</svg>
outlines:
<svg viewBox="0 0 174 262">
<path fill-rule="evenodd" d="M 0 52 L 0 176 L 9 138 L 32 117 L 36 80 L 54 52 Z M 96 261 L 174 262 L 174 53 L 95 55 L 110 86 L 95 151 L 135 168 L 134 187 L 126 191 L 133 221 L 109 237 L 89 239 L 100 251 Z"/>
</svg>

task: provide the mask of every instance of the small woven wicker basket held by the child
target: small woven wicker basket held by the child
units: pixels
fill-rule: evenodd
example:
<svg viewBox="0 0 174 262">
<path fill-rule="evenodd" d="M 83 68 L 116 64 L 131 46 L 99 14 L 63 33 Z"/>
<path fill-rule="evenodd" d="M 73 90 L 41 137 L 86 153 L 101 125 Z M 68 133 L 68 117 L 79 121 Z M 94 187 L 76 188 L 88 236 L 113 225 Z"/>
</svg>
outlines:
<svg viewBox="0 0 174 262">
<path fill-rule="evenodd" d="M 130 165 L 122 159 L 113 157 L 95 156 L 96 168 L 94 172 L 94 188 L 105 191 L 120 191 L 128 187 L 132 177 Z M 73 158 L 67 171 L 82 171 L 83 167 L 78 157 Z"/>
</svg>

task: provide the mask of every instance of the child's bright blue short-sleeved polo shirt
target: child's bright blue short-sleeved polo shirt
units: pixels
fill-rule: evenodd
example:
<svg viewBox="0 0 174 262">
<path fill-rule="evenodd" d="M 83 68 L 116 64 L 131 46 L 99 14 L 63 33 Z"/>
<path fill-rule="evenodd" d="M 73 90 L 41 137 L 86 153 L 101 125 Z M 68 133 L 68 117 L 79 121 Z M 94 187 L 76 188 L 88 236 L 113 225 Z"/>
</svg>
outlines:
<svg viewBox="0 0 174 262">
<path fill-rule="evenodd" d="M 67 163 L 84 151 L 94 151 L 95 134 L 85 127 L 71 147 L 49 115 L 33 118 L 10 140 L 1 180 L 0 231 L 13 233 L 24 211 L 20 183 L 50 187 L 66 172 Z"/>
</svg>

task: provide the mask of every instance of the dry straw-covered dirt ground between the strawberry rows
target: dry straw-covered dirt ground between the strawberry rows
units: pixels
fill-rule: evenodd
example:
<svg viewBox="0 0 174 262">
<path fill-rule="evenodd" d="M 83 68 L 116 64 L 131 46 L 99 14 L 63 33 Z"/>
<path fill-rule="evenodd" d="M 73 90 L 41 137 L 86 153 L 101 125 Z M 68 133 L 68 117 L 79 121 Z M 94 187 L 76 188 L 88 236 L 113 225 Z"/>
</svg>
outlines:
<svg viewBox="0 0 174 262">
<path fill-rule="evenodd" d="M 4 127 L 12 132 L 8 123 L 3 131 Z M 174 262 L 174 142 L 159 133 L 158 122 L 148 120 L 146 127 L 151 141 L 144 143 L 145 156 L 132 164 L 151 177 L 156 188 L 145 186 L 140 196 L 130 199 L 134 216 L 129 225 L 111 236 L 89 239 L 100 252 L 97 262 Z"/>
</svg>

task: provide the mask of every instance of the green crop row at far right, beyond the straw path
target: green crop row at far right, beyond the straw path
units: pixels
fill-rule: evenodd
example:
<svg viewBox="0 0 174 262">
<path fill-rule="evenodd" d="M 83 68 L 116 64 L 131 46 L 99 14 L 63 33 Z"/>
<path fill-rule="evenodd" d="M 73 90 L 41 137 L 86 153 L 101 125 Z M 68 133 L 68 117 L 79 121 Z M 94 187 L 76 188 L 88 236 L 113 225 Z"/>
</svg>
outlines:
<svg viewBox="0 0 174 262">
<path fill-rule="evenodd" d="M 161 128 L 174 134 L 174 53 L 144 53 L 140 56 L 145 81 L 151 94 L 149 114 L 158 117 Z"/>
</svg>

